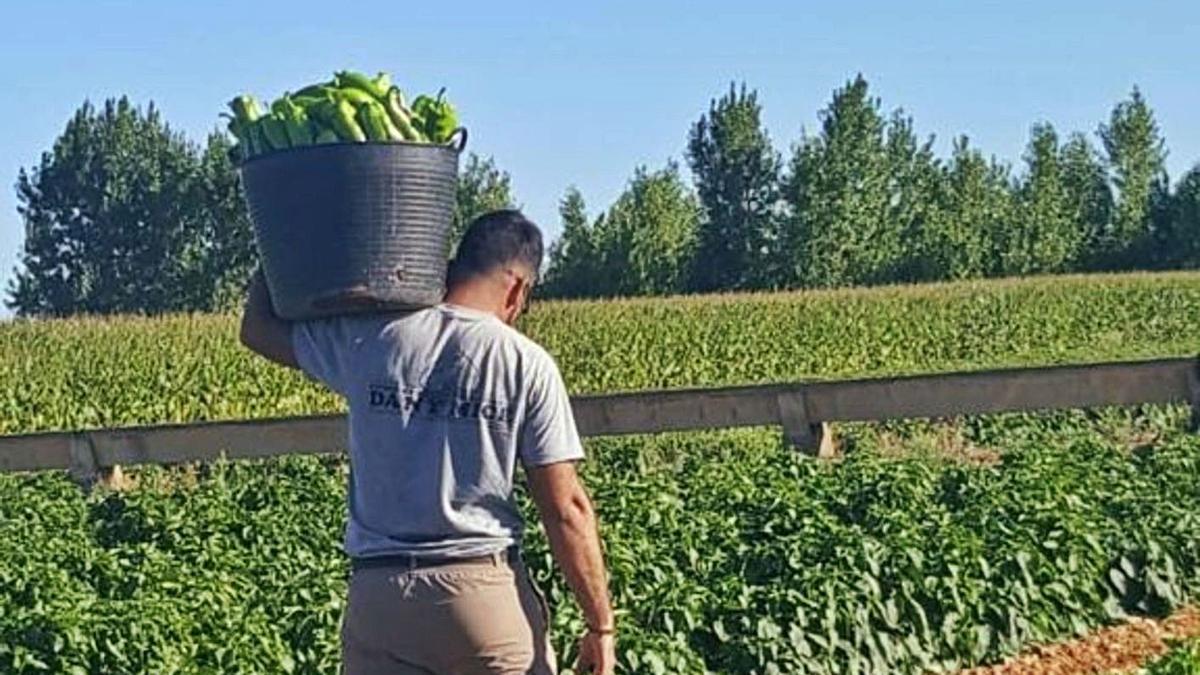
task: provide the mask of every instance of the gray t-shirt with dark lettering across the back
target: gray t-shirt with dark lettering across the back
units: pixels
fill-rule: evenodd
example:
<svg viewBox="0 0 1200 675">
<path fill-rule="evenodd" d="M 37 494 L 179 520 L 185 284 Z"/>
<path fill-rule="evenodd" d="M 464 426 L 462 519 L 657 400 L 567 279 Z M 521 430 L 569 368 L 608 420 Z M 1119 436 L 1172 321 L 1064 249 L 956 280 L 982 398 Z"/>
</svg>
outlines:
<svg viewBox="0 0 1200 675">
<path fill-rule="evenodd" d="M 346 552 L 468 557 L 520 544 L 516 462 L 583 458 L 554 360 L 455 305 L 293 324 L 296 360 L 349 405 Z"/>
</svg>

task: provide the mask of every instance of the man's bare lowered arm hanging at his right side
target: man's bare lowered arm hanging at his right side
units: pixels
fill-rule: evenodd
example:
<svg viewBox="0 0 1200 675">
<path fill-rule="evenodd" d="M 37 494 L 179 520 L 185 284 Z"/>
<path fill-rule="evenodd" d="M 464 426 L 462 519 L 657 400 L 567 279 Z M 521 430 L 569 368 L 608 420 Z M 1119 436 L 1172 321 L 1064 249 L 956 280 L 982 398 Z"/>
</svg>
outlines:
<svg viewBox="0 0 1200 675">
<path fill-rule="evenodd" d="M 613 631 L 608 580 L 595 510 L 571 462 L 526 468 L 529 494 L 546 526 L 554 560 L 583 610 L 588 628 L 596 633 Z"/>
</svg>

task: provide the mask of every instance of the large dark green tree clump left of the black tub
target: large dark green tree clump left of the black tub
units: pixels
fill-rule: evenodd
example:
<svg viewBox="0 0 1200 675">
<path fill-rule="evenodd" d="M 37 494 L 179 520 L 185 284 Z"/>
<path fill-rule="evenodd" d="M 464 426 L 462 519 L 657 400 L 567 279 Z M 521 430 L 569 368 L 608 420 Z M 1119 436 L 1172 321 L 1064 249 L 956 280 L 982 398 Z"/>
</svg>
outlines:
<svg viewBox="0 0 1200 675">
<path fill-rule="evenodd" d="M 7 304 L 20 315 L 208 310 L 252 256 L 226 156 L 127 98 L 84 103 L 17 180 L 25 221 Z"/>
</svg>

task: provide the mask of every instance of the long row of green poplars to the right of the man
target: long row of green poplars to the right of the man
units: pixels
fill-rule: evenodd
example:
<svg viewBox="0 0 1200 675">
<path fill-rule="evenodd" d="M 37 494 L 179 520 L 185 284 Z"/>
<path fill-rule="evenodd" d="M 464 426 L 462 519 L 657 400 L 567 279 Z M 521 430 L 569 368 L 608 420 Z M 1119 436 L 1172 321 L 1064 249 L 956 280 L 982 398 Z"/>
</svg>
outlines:
<svg viewBox="0 0 1200 675">
<path fill-rule="evenodd" d="M 1094 141 L 1032 127 L 1019 171 L 966 137 L 949 157 L 859 76 L 785 160 L 745 85 L 691 127 L 691 185 L 640 168 L 592 219 L 562 201 L 546 293 L 613 297 L 1163 269 L 1200 263 L 1200 165 L 1171 190 L 1134 89 Z"/>
</svg>

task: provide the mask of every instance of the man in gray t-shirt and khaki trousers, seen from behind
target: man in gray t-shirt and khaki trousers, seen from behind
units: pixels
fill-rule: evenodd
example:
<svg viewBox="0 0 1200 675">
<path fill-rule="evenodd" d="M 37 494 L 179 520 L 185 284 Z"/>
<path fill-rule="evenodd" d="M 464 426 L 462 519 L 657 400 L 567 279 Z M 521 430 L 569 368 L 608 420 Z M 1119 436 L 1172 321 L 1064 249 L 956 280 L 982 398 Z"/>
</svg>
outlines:
<svg viewBox="0 0 1200 675">
<path fill-rule="evenodd" d="M 292 324 L 275 317 L 262 274 L 251 285 L 242 342 L 349 405 L 349 675 L 556 673 L 545 599 L 518 551 L 518 461 L 587 620 L 578 670 L 613 673 L 570 401 L 553 359 L 511 327 L 541 258 L 538 227 L 503 210 L 470 225 L 434 307 Z"/>
</svg>

